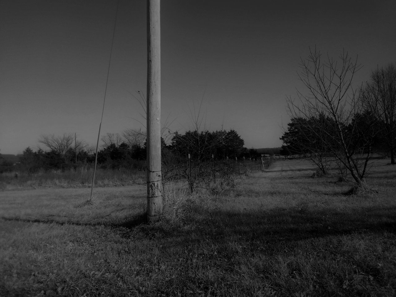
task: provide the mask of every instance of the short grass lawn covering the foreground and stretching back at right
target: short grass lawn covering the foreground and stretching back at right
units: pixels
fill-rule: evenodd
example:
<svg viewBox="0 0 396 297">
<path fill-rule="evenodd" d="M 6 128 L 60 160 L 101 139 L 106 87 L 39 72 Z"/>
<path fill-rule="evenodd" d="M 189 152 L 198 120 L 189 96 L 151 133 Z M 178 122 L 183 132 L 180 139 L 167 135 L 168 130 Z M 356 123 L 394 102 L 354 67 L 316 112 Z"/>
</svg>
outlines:
<svg viewBox="0 0 396 297">
<path fill-rule="evenodd" d="M 0 192 L 0 296 L 396 296 L 387 163 L 367 176 L 378 193 L 345 196 L 352 183 L 279 161 L 155 225 L 144 186 L 83 207 L 86 188 Z"/>
</svg>

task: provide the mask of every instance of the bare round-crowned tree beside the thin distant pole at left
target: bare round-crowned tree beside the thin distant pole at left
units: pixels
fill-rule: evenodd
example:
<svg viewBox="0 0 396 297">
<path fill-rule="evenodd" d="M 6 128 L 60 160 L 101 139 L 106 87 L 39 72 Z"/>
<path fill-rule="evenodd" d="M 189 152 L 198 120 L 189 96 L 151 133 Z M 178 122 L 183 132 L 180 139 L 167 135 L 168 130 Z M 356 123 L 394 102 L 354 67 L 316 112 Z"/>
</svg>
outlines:
<svg viewBox="0 0 396 297">
<path fill-rule="evenodd" d="M 63 133 L 62 136 L 55 136 L 54 134 L 41 135 L 38 142 L 63 157 L 65 157 L 69 148 L 73 150 L 75 148 L 76 151 L 78 151 L 88 147 L 88 145 L 82 140 L 76 141 L 76 144 L 74 145 L 74 135 L 72 133 Z"/>
</svg>

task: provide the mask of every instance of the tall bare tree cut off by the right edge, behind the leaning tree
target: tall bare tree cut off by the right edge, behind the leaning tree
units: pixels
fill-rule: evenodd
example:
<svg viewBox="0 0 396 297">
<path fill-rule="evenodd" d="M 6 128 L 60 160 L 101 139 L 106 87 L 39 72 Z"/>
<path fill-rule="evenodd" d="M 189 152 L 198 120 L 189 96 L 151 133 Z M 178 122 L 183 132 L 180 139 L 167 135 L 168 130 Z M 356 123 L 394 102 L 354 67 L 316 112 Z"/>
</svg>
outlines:
<svg viewBox="0 0 396 297">
<path fill-rule="evenodd" d="M 370 78 L 362 98 L 379 122 L 381 138 L 390 152 L 390 164 L 396 164 L 396 67 L 389 64 L 377 69 L 371 72 Z"/>
</svg>

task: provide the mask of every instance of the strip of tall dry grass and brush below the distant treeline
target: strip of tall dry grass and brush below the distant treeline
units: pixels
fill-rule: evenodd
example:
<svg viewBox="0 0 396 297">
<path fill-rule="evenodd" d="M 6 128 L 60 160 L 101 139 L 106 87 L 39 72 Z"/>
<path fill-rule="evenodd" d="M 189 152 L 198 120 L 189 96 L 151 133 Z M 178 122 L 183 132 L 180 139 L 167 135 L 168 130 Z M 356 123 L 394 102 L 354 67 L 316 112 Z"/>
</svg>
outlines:
<svg viewBox="0 0 396 297">
<path fill-rule="evenodd" d="M 209 162 L 206 170 L 197 174 L 197 168 L 192 168 L 192 176 L 194 187 L 197 188 L 215 188 L 217 192 L 223 191 L 223 188 L 232 184 L 232 179 L 241 175 L 250 175 L 253 172 L 261 171 L 268 168 L 274 160 L 265 158 L 263 165 L 259 161 L 253 162 L 243 160 L 235 162 L 227 160 L 227 162 L 218 162 L 215 168 L 212 168 Z M 185 170 L 185 166 L 178 168 L 175 166 L 173 171 L 179 172 Z M 202 169 L 202 168 L 201 168 Z M 202 170 L 200 170 L 202 171 Z M 213 171 L 215 172 L 216 181 L 212 182 Z M 187 172 L 187 171 L 186 171 Z M 16 190 L 28 188 L 84 188 L 90 187 L 92 183 L 93 168 L 87 166 L 63 170 L 40 170 L 36 173 L 1 173 L 0 174 L 0 190 Z M 176 178 L 175 178 L 176 176 Z M 197 177 L 198 176 L 198 177 Z M 96 187 L 117 187 L 134 184 L 145 184 L 146 173 L 144 170 L 136 169 L 105 169 L 98 168 L 95 173 Z M 188 183 L 188 175 L 173 174 L 164 176 L 166 184 L 173 182 L 185 181 Z M 226 185 L 228 183 L 228 185 Z"/>
</svg>

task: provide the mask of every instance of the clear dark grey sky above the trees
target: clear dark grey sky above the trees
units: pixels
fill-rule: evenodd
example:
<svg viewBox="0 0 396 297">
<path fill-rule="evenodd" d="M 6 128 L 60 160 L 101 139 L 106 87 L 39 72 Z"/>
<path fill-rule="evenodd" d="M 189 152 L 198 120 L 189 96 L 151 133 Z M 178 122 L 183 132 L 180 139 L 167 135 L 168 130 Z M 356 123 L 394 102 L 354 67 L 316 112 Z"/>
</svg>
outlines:
<svg viewBox="0 0 396 297">
<path fill-rule="evenodd" d="M 96 143 L 117 0 L 0 1 L 0 152 L 41 134 Z M 345 48 L 369 73 L 396 62 L 396 2 L 162 0 L 162 119 L 181 132 L 203 98 L 205 128 L 235 129 L 246 147 L 276 147 L 286 96 L 308 46 Z M 102 135 L 145 122 L 146 1 L 120 0 Z M 305 91 L 304 89 L 301 89 Z M 204 127 L 202 127 L 204 128 Z"/>
</svg>

